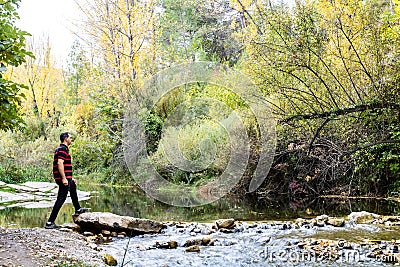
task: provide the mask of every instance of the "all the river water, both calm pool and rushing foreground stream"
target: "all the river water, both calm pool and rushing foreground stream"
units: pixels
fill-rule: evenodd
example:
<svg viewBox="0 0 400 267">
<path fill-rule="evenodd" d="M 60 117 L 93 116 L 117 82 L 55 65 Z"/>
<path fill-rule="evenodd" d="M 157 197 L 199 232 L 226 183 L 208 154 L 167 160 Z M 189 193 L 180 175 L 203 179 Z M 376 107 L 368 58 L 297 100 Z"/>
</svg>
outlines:
<svg viewBox="0 0 400 267">
<path fill-rule="evenodd" d="M 314 218 L 321 214 L 344 217 L 362 210 L 398 215 L 400 204 L 391 200 L 236 197 L 201 207 L 181 208 L 148 198 L 140 188 L 80 185 L 80 189 L 91 192 L 91 198 L 81 204 L 92 211 L 163 222 L 189 222 L 184 228 L 170 224 L 158 235 L 115 238 L 102 244 L 103 252 L 116 257 L 118 266 L 122 263 L 124 266 L 393 266 L 379 258 L 368 257 L 370 250 L 359 244 L 379 240 L 381 245 L 389 247 L 396 244 L 396 240 L 400 242 L 400 231 L 384 226 L 347 222 L 345 227 L 295 227 L 293 222 L 296 218 Z M 43 227 L 50 211 L 51 208 L 0 210 L 0 226 Z M 72 213 L 72 205 L 64 205 L 56 223 L 72 222 Z M 234 233 L 212 229 L 213 222 L 221 218 L 237 220 Z M 186 252 L 184 244 L 188 240 L 205 237 L 212 240 L 213 245 L 200 246 L 200 252 Z M 355 243 L 349 250 L 341 250 L 333 256 L 328 251 L 327 257 L 321 257 L 315 253 L 318 248 L 312 247 L 312 244 L 324 242 L 321 240 L 330 240 L 328 247 L 332 248 L 337 247 L 338 242 Z M 178 247 L 161 249 L 156 246 L 169 241 L 176 241 Z M 311 250 L 300 249 L 299 244 L 303 243 Z"/>
</svg>

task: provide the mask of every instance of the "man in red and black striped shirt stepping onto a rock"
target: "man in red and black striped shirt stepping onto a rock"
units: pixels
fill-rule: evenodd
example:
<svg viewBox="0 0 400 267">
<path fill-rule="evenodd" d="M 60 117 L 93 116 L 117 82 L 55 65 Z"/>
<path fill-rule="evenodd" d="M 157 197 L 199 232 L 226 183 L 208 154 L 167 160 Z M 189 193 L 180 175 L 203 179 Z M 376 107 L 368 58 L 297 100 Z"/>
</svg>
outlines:
<svg viewBox="0 0 400 267">
<path fill-rule="evenodd" d="M 53 176 L 58 185 L 57 200 L 51 211 L 49 220 L 46 222 L 46 229 L 58 229 L 60 226 L 54 222 L 57 218 L 58 212 L 67 199 L 68 191 L 72 199 L 72 204 L 75 208 L 75 214 L 79 215 L 88 211 L 86 208 L 81 208 L 79 205 L 78 194 L 76 192 L 76 181 L 72 179 L 72 161 L 69 154 L 68 146 L 72 142 L 72 137 L 69 132 L 64 132 L 60 135 L 61 144 L 54 152 L 53 161 Z"/>
</svg>

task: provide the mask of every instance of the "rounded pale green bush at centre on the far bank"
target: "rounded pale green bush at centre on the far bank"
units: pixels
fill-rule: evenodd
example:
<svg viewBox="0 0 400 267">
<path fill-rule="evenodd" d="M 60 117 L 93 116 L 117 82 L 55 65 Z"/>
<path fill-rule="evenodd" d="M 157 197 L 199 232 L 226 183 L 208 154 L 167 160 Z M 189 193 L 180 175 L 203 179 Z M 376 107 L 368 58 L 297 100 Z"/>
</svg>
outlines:
<svg viewBox="0 0 400 267">
<path fill-rule="evenodd" d="M 215 177 L 225 169 L 230 156 L 228 141 L 224 129 L 211 120 L 189 124 L 182 129 L 169 127 L 151 160 L 170 181 L 193 184 L 202 178 Z M 185 158 L 191 165 L 177 166 L 182 164 L 174 162 L 177 158 Z"/>
</svg>

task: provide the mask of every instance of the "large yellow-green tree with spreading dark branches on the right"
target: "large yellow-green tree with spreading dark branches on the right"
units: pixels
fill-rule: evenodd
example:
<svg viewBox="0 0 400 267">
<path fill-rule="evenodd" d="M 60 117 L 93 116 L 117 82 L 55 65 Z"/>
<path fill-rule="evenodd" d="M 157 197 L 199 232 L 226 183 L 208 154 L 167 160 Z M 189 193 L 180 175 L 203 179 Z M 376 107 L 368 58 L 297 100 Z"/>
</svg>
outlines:
<svg viewBox="0 0 400 267">
<path fill-rule="evenodd" d="M 353 173 L 365 186 L 348 192 L 387 190 L 400 173 L 397 3 L 232 2 L 248 22 L 242 70 L 270 97 L 283 155 L 297 153 L 288 183 L 321 194 Z"/>
</svg>

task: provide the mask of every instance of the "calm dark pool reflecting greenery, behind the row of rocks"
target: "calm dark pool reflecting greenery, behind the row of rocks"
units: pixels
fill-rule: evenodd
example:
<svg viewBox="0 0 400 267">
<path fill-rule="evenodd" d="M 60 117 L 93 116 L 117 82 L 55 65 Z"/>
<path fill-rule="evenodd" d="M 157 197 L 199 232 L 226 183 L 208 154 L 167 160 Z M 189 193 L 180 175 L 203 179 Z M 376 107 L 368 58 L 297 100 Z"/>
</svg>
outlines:
<svg viewBox="0 0 400 267">
<path fill-rule="evenodd" d="M 214 203 L 192 208 L 172 207 L 146 196 L 140 188 L 109 187 L 80 184 L 81 190 L 90 191 L 91 198 L 81 205 L 91 211 L 112 212 L 158 221 L 210 222 L 219 218 L 235 218 L 243 221 L 290 220 L 309 218 L 320 214 L 345 216 L 353 211 L 369 211 L 383 215 L 398 215 L 400 204 L 377 199 L 255 199 L 250 197 L 225 197 Z M 3 227 L 43 227 L 51 208 L 0 210 Z M 72 204 L 64 204 L 56 220 L 57 224 L 72 222 Z"/>
</svg>

